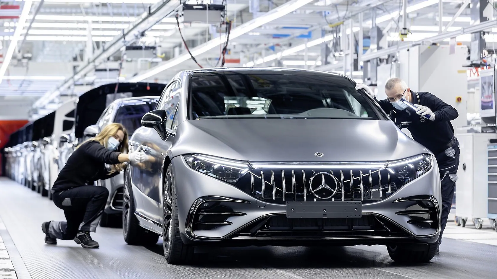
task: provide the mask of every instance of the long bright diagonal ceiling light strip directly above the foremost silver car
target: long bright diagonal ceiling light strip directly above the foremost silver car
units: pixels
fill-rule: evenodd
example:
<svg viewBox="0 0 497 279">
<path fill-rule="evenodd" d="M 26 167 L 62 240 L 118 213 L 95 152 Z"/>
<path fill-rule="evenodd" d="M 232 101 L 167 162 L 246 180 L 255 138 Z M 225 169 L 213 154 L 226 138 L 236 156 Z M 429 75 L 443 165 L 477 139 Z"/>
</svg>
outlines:
<svg viewBox="0 0 497 279">
<path fill-rule="evenodd" d="M 294 11 L 294 10 L 296 10 L 296 9 L 302 7 L 303 5 L 308 4 L 312 1 L 313 0 L 291 0 L 291 1 L 288 1 L 280 6 L 264 13 L 263 15 L 261 15 L 259 17 L 256 17 L 256 18 L 248 21 L 247 23 L 244 23 L 244 24 L 236 27 L 235 29 L 233 29 L 231 31 L 230 39 L 233 40 L 239 36 L 242 36 L 242 35 L 252 31 L 253 29 L 255 29 L 257 27 L 262 26 L 262 25 L 264 25 L 268 22 L 271 22 L 277 18 L 280 18 L 284 15 L 287 15 L 290 12 L 292 12 L 292 11 Z M 165 19 L 167 19 L 167 18 L 165 18 Z M 173 18 L 170 18 L 170 19 L 173 19 Z M 163 22 L 164 22 L 164 19 L 163 19 Z M 214 48 L 219 48 L 219 45 L 225 43 L 226 40 L 227 40 L 227 38 L 225 35 L 217 37 L 215 39 L 212 39 L 212 40 L 194 48 L 191 51 L 191 54 L 194 57 L 198 57 L 199 55 L 201 55 L 209 50 L 212 50 Z M 156 75 L 164 70 L 167 70 L 171 67 L 179 65 L 179 64 L 181 64 L 189 59 L 190 59 L 190 55 L 188 53 L 184 53 L 184 54 L 178 56 L 177 58 L 170 59 L 166 63 L 164 63 L 160 66 L 154 67 L 145 73 L 142 73 L 140 75 L 137 75 L 137 76 L 131 78 L 129 81 L 130 82 L 138 82 L 138 81 L 144 80 L 144 79 L 149 78 L 153 75 Z"/>
</svg>

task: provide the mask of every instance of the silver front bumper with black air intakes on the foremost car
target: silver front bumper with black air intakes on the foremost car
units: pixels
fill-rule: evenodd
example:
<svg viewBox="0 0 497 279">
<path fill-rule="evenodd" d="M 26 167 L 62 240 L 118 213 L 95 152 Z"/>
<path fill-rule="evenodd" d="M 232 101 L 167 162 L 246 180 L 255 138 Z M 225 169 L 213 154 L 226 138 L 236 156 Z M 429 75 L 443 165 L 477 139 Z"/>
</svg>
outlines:
<svg viewBox="0 0 497 279">
<path fill-rule="evenodd" d="M 228 183 L 194 171 L 182 156 L 173 158 L 172 171 L 179 229 L 184 241 L 221 241 L 233 245 L 267 242 L 265 245 L 282 246 L 286 243 L 307 246 L 317 242 L 340 245 L 433 243 L 440 233 L 441 194 L 436 164 L 384 200 L 363 204 L 362 218 L 339 219 L 287 218 L 286 205 L 261 201 Z M 431 207 L 422 210 L 431 211 L 425 214 L 427 219 L 432 219 L 431 223 L 413 221 L 414 210 L 419 210 L 419 204 L 430 204 L 428 202 Z M 206 219 L 203 214 L 201 220 L 199 210 L 211 206 L 215 207 L 213 212 L 207 213 L 218 217 Z"/>
</svg>

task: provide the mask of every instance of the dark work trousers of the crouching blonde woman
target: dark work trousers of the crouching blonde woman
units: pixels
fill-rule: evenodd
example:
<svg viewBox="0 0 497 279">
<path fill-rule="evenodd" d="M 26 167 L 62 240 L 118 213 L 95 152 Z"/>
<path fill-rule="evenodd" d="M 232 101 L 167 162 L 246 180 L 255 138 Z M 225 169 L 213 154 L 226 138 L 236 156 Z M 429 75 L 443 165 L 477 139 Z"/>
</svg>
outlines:
<svg viewBox="0 0 497 279">
<path fill-rule="evenodd" d="M 50 237 L 67 240 L 78 230 L 95 232 L 108 197 L 107 188 L 93 185 L 53 193 L 54 204 L 64 209 L 67 221 L 50 222 Z"/>
</svg>

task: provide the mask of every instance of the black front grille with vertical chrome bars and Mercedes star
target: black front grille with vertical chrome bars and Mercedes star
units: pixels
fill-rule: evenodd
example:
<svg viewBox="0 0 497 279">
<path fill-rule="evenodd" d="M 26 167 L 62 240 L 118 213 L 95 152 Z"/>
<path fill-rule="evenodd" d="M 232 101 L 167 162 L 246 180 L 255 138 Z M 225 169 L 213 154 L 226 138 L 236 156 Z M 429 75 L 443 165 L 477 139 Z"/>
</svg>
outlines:
<svg viewBox="0 0 497 279">
<path fill-rule="evenodd" d="M 401 183 L 386 169 L 255 169 L 236 186 L 266 202 L 360 201 L 372 203 Z"/>
</svg>

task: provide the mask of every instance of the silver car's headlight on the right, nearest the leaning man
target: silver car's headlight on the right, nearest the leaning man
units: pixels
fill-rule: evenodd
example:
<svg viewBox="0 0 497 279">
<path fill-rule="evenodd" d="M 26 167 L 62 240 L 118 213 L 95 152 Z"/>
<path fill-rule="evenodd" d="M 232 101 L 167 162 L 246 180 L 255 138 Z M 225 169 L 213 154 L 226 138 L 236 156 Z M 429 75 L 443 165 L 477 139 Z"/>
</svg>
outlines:
<svg viewBox="0 0 497 279">
<path fill-rule="evenodd" d="M 413 181 L 428 172 L 433 166 L 432 156 L 429 154 L 389 162 L 387 170 L 396 176 L 403 184 Z"/>
</svg>

